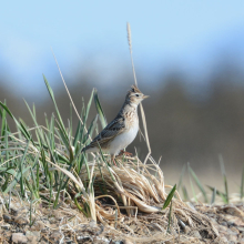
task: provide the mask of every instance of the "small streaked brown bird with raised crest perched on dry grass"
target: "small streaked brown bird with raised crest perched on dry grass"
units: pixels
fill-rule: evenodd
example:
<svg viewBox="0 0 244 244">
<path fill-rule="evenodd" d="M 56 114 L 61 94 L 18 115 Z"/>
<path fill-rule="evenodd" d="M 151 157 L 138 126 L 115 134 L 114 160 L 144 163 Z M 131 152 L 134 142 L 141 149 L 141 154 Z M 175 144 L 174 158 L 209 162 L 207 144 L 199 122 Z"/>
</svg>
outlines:
<svg viewBox="0 0 244 244">
<path fill-rule="evenodd" d="M 115 156 L 131 144 L 139 131 L 138 106 L 149 95 L 144 95 L 136 85 L 132 85 L 125 95 L 125 101 L 118 115 L 81 152 L 102 152 Z M 130 154 L 130 153 L 129 153 Z"/>
</svg>

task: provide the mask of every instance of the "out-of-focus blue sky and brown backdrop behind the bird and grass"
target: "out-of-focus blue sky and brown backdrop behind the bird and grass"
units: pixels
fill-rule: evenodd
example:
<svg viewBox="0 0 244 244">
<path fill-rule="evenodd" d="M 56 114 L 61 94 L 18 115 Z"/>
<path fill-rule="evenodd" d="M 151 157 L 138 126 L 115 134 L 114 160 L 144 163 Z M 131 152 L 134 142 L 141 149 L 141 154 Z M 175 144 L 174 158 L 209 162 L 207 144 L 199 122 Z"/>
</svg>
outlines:
<svg viewBox="0 0 244 244">
<path fill-rule="evenodd" d="M 134 83 L 133 59 L 153 157 L 165 181 L 179 181 L 190 162 L 204 184 L 222 187 L 222 154 L 232 192 L 244 166 L 244 1 L 4 1 L 0 9 L 0 101 L 33 125 L 23 98 L 34 103 L 39 123 L 54 111 L 42 73 L 62 116 L 70 102 L 51 48 L 81 110 L 96 88 L 112 120 Z M 94 106 L 91 112 L 95 116 Z M 78 122 L 74 119 L 74 124 Z M 140 157 L 146 148 L 140 136 Z"/>
</svg>

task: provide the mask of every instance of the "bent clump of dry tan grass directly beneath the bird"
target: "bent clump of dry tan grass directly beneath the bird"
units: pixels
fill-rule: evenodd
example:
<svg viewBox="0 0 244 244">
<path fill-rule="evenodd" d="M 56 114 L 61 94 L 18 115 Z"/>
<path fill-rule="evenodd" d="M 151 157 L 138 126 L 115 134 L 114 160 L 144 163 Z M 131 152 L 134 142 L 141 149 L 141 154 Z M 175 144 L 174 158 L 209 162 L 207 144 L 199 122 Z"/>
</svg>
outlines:
<svg viewBox="0 0 244 244">
<path fill-rule="evenodd" d="M 122 162 L 121 162 L 122 164 Z M 103 207 L 111 207 L 110 212 L 102 210 L 103 207 L 96 206 L 96 216 L 102 223 L 112 224 L 115 221 L 115 213 L 112 211 L 113 207 L 120 207 L 121 210 L 130 210 L 131 216 L 135 214 L 134 207 L 141 213 L 146 213 L 145 220 L 148 222 L 155 221 L 156 217 L 152 220 L 149 218 L 151 214 L 155 214 L 159 217 L 157 224 L 162 227 L 167 223 L 167 209 L 162 211 L 162 206 L 167 196 L 164 187 L 172 187 L 170 185 L 164 185 L 163 173 L 157 164 L 152 164 L 159 172 L 157 176 L 154 176 L 146 169 L 146 165 L 139 161 L 138 159 L 129 160 L 124 162 L 124 165 L 112 166 L 111 171 L 104 166 L 100 173 L 99 169 L 94 167 L 94 187 L 95 194 L 98 196 L 102 195 L 100 189 L 95 185 L 105 183 L 105 189 L 109 195 L 113 196 L 114 204 L 102 204 Z M 152 166 L 151 165 L 151 166 Z M 138 171 L 139 167 L 139 171 Z M 144 169 L 144 171 L 143 171 Z M 112 180 L 111 173 L 113 174 Z M 102 174 L 102 175 L 101 175 Z M 88 181 L 85 170 L 81 173 L 81 179 L 83 182 Z M 174 210 L 173 210 L 173 223 L 172 223 L 172 233 L 179 233 L 177 220 L 183 222 L 185 225 L 189 225 L 191 228 L 196 230 L 202 227 L 206 230 L 210 235 L 218 236 L 218 232 L 215 230 L 207 216 L 196 212 L 189 207 L 185 203 L 182 202 L 179 193 L 176 192 L 177 199 L 173 200 Z M 126 205 L 124 204 L 123 197 L 126 200 Z M 100 197 L 101 200 L 101 197 Z M 130 209 L 131 206 L 131 209 Z M 105 213 L 104 213 L 105 211 Z M 130 214 L 128 214 L 130 216 Z M 124 218 L 124 215 L 121 214 L 119 222 Z M 143 216 L 143 215 L 141 215 Z M 130 218 L 133 220 L 133 218 Z M 141 218 L 140 218 L 141 220 Z M 177 236 L 175 234 L 175 236 Z"/>
</svg>

